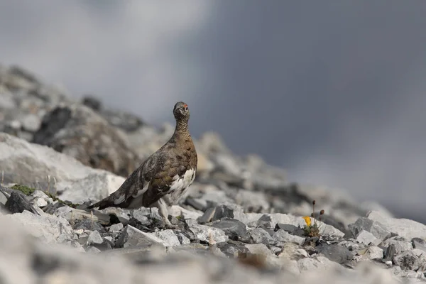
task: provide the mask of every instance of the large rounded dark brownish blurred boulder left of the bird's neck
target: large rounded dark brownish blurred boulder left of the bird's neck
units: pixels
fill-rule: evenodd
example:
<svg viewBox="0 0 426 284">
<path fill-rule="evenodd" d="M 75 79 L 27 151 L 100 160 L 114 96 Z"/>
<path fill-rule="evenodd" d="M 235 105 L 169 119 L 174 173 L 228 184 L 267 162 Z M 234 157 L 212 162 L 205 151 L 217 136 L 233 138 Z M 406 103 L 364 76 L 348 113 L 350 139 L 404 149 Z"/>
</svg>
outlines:
<svg viewBox="0 0 426 284">
<path fill-rule="evenodd" d="M 32 142 L 70 155 L 84 165 L 124 177 L 141 163 L 129 148 L 126 136 L 81 104 L 57 107 L 46 114 Z"/>
</svg>

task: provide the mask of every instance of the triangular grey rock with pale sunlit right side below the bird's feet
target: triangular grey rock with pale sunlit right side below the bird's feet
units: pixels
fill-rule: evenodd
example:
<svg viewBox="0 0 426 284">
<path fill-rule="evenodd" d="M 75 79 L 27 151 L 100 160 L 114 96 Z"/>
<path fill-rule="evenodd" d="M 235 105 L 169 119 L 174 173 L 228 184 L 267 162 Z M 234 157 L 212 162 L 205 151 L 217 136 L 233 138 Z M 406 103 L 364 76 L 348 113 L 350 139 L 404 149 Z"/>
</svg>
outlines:
<svg viewBox="0 0 426 284">
<path fill-rule="evenodd" d="M 166 246 L 165 241 L 153 233 L 145 233 L 133 226 L 127 225 L 116 241 L 116 247 L 128 248 L 133 246 Z"/>
</svg>

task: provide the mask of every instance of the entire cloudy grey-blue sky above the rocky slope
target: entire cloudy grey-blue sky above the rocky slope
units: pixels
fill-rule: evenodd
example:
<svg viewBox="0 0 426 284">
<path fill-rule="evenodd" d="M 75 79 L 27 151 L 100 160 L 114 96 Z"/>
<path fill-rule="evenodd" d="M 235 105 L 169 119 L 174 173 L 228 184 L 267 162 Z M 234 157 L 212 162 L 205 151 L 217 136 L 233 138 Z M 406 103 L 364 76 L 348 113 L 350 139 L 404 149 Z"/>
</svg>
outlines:
<svg viewBox="0 0 426 284">
<path fill-rule="evenodd" d="M 425 213 L 426 1 L 0 0 L 0 63 Z"/>
</svg>

